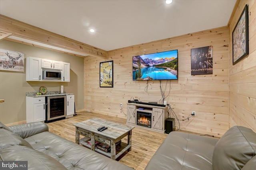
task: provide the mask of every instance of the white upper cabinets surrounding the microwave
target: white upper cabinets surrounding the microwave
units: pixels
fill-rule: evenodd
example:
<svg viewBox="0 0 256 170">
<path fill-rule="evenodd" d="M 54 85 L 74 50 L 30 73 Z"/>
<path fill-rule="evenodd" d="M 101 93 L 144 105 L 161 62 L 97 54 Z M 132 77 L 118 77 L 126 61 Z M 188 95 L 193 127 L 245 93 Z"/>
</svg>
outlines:
<svg viewBox="0 0 256 170">
<path fill-rule="evenodd" d="M 61 80 L 43 80 L 43 71 L 47 69 L 59 70 L 61 72 Z M 26 81 L 70 82 L 70 63 L 27 57 Z"/>
</svg>

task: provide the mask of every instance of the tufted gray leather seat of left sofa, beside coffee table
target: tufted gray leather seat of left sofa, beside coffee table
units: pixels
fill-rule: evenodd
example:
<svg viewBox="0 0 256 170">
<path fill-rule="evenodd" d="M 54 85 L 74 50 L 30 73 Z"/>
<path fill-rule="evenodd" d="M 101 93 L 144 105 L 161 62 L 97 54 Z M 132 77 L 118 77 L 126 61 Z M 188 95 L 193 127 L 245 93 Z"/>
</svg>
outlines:
<svg viewBox="0 0 256 170">
<path fill-rule="evenodd" d="M 35 150 L 58 160 L 67 169 L 132 170 L 132 168 L 50 132 L 25 139 Z"/>
</svg>

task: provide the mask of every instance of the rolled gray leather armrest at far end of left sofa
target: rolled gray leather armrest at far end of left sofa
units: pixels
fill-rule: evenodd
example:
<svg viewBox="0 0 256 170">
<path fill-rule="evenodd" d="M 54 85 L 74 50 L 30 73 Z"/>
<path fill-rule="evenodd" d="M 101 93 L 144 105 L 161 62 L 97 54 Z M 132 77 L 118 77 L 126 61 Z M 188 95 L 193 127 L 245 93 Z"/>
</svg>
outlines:
<svg viewBox="0 0 256 170">
<path fill-rule="evenodd" d="M 24 123 L 21 125 L 13 125 L 9 128 L 14 133 L 20 135 L 20 137 L 22 137 L 23 139 L 44 131 L 48 131 L 48 126 L 42 122 Z"/>
</svg>

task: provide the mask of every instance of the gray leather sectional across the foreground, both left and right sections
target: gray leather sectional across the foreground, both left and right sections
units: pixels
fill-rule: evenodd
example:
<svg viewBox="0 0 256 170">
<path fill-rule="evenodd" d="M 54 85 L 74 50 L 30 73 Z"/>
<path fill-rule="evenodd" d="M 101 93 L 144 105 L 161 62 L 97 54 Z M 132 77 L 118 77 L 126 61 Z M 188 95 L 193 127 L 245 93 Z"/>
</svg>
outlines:
<svg viewBox="0 0 256 170">
<path fill-rule="evenodd" d="M 6 127 L 0 123 L 1 160 L 28 160 L 28 169 L 132 170 L 90 149 L 48 132 L 46 124 Z M 230 128 L 220 139 L 171 132 L 145 170 L 255 170 L 256 133 Z"/>
</svg>

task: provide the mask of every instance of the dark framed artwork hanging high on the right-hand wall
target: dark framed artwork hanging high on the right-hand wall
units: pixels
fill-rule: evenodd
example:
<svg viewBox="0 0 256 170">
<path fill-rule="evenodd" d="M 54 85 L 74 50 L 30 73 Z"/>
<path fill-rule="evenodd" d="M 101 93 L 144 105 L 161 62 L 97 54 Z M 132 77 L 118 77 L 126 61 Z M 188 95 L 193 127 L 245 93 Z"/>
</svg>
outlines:
<svg viewBox="0 0 256 170">
<path fill-rule="evenodd" d="M 246 4 L 232 32 L 233 65 L 249 54 L 248 33 L 248 5 Z"/>
</svg>

